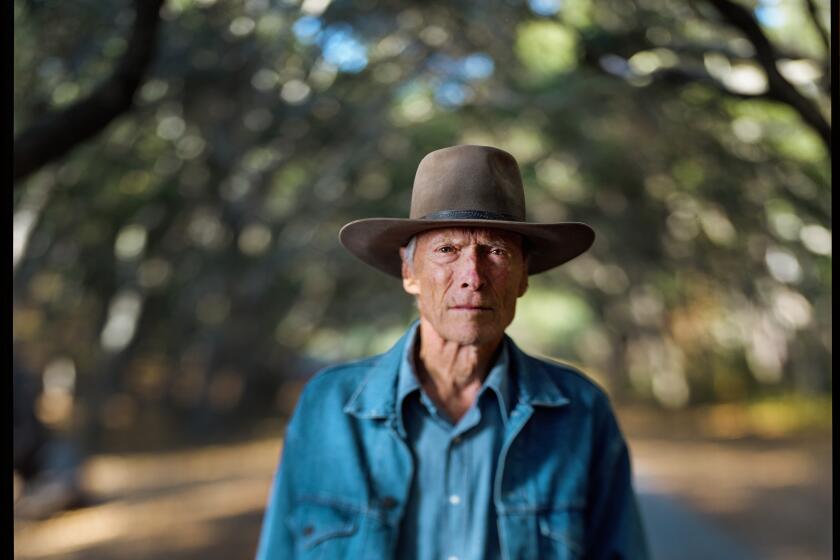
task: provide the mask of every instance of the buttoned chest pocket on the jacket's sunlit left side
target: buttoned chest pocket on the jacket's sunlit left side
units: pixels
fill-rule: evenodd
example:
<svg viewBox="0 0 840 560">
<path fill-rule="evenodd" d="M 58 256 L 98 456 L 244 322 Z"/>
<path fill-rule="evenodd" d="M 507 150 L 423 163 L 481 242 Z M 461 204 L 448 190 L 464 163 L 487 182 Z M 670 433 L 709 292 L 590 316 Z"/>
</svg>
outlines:
<svg viewBox="0 0 840 560">
<path fill-rule="evenodd" d="M 340 558 L 349 551 L 359 530 L 357 509 L 324 499 L 301 499 L 292 514 L 291 529 L 301 558 Z"/>
</svg>

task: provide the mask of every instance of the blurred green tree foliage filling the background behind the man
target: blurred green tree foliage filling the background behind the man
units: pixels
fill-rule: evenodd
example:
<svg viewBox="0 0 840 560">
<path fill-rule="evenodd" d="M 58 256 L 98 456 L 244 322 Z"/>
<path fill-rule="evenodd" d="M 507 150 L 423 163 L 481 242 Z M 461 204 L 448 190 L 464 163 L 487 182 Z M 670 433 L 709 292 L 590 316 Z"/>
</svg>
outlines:
<svg viewBox="0 0 840 560">
<path fill-rule="evenodd" d="M 128 4 L 33 5 L 15 3 L 16 131 L 127 52 Z M 511 327 L 527 349 L 667 406 L 830 390 L 827 3 L 160 14 L 133 110 L 14 193 L 16 350 L 76 364 L 62 421 L 91 445 L 210 432 L 384 349 L 411 301 L 338 229 L 405 215 L 422 155 L 467 142 L 516 155 L 532 219 L 598 231 L 534 277 Z"/>
</svg>

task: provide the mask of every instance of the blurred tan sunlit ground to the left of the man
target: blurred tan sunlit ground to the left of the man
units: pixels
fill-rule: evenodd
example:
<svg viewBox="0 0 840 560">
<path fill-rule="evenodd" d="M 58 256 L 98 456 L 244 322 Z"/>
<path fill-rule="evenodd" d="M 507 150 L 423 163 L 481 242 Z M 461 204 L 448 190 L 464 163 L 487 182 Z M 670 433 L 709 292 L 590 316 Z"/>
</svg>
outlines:
<svg viewBox="0 0 840 560">
<path fill-rule="evenodd" d="M 84 469 L 84 486 L 93 505 L 42 522 L 18 522 L 15 557 L 43 558 L 101 547 L 127 548 L 126 557 L 132 558 L 214 550 L 224 543 L 219 543 L 212 523 L 244 514 L 261 517 L 280 446 L 278 439 L 268 439 L 94 457 Z M 252 539 L 256 529 L 249 532 Z"/>
</svg>

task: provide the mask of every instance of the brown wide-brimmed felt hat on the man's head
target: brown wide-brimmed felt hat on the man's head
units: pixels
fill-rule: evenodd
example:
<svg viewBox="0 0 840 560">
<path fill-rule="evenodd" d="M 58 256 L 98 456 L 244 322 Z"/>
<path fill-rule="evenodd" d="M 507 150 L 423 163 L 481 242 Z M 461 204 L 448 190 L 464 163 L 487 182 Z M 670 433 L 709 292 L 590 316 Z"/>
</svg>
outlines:
<svg viewBox="0 0 840 560">
<path fill-rule="evenodd" d="M 417 166 L 406 218 L 367 218 L 341 228 L 344 247 L 374 268 L 402 277 L 399 249 L 413 236 L 448 227 L 498 228 L 528 243 L 528 274 L 561 265 L 592 246 L 586 224 L 525 221 L 525 191 L 519 165 L 509 153 L 489 146 L 436 150 Z"/>
</svg>

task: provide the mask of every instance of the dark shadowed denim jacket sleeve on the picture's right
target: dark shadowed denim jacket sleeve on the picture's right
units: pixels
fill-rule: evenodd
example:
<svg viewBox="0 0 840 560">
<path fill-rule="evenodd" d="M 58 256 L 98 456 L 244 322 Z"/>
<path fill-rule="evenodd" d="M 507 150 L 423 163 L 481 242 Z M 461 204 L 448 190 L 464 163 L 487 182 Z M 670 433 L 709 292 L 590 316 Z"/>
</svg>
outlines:
<svg viewBox="0 0 840 560">
<path fill-rule="evenodd" d="M 596 404 L 587 500 L 587 558 L 650 558 L 633 490 L 630 454 L 606 396 Z"/>
</svg>

